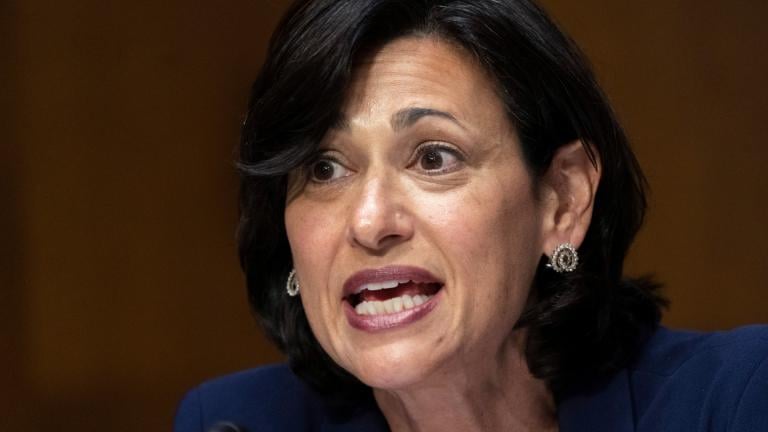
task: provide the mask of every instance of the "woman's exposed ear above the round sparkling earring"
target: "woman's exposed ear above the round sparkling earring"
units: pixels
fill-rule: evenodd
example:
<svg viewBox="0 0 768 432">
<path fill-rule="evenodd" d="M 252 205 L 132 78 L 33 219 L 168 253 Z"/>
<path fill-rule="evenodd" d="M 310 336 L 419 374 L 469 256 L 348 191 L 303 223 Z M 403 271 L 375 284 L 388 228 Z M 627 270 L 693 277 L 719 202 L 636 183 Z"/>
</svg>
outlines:
<svg viewBox="0 0 768 432">
<path fill-rule="evenodd" d="M 592 151 L 597 158 L 597 152 Z M 543 248 L 550 256 L 562 243 L 578 248 L 592 220 L 601 165 L 589 158 L 581 140 L 560 147 L 544 174 L 540 189 Z"/>
</svg>

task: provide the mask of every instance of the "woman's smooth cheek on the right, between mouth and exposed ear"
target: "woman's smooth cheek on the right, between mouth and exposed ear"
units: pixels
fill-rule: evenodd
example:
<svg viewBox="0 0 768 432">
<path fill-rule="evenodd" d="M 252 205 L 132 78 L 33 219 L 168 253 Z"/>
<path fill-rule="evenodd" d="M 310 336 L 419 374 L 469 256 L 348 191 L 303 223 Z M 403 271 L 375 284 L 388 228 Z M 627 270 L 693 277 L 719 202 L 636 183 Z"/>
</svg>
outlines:
<svg viewBox="0 0 768 432">
<path fill-rule="evenodd" d="M 488 326 L 506 334 L 525 305 L 538 263 L 538 207 L 526 187 L 483 188 L 462 201 L 433 222 L 461 288 L 454 295 L 465 310 L 463 325 L 476 322 L 466 331 L 480 332 L 477 337 Z"/>
</svg>

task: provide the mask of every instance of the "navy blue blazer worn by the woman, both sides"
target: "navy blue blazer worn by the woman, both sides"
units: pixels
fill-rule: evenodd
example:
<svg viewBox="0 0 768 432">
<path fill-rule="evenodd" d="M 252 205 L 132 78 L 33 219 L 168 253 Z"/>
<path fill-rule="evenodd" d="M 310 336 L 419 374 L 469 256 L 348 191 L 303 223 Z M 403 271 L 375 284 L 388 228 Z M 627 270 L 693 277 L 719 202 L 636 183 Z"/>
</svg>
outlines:
<svg viewBox="0 0 768 432">
<path fill-rule="evenodd" d="M 697 333 L 660 328 L 606 382 L 558 403 L 560 432 L 768 431 L 768 326 Z M 252 369 L 190 391 L 175 432 L 217 422 L 248 432 L 388 431 L 373 397 L 330 404 L 286 366 Z"/>
</svg>

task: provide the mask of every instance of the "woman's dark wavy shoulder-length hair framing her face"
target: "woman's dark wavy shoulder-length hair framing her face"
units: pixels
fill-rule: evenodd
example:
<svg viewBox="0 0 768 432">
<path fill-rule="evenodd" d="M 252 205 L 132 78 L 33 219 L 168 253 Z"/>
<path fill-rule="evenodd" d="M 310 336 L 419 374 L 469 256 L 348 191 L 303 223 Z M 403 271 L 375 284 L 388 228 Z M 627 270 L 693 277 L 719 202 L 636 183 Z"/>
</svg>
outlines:
<svg viewBox="0 0 768 432">
<path fill-rule="evenodd" d="M 316 389 L 347 396 L 366 389 L 323 351 L 301 301 L 285 293 L 287 175 L 312 160 L 338 120 L 356 62 L 404 36 L 463 47 L 496 80 L 534 182 L 574 140 L 599 161 L 580 265 L 558 274 L 542 257 L 517 327 L 528 331 L 529 369 L 556 394 L 626 365 L 665 304 L 649 279 L 622 276 L 646 181 L 585 57 L 529 0 L 300 0 L 290 8 L 253 85 L 239 152 L 240 262 L 266 333 Z"/>
</svg>

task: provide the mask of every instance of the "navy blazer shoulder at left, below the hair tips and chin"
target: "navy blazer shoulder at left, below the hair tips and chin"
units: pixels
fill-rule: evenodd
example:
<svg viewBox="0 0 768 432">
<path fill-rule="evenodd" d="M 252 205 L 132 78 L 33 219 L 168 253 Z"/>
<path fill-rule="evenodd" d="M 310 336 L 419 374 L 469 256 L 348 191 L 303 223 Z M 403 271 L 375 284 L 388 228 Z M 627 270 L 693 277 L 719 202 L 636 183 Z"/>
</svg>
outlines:
<svg viewBox="0 0 768 432">
<path fill-rule="evenodd" d="M 372 398 L 329 403 L 286 365 L 271 365 L 219 377 L 190 390 L 176 411 L 174 431 L 206 432 L 217 423 L 246 431 L 341 430 L 333 426 L 336 423 L 376 426 L 380 416 L 372 403 Z"/>
</svg>

